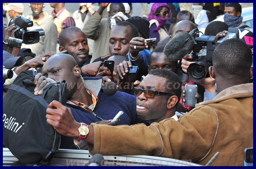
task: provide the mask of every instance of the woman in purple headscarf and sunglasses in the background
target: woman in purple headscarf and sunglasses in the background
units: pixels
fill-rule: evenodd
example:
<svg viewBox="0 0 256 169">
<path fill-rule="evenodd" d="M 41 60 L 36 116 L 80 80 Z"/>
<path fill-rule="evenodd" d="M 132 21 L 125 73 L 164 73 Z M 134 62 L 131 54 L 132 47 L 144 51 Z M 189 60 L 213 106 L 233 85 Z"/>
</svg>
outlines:
<svg viewBox="0 0 256 169">
<path fill-rule="evenodd" d="M 150 38 L 157 38 L 159 42 L 169 36 L 165 25 L 170 13 L 171 9 L 166 3 L 154 3 L 152 5 L 147 18 L 150 23 Z"/>
</svg>

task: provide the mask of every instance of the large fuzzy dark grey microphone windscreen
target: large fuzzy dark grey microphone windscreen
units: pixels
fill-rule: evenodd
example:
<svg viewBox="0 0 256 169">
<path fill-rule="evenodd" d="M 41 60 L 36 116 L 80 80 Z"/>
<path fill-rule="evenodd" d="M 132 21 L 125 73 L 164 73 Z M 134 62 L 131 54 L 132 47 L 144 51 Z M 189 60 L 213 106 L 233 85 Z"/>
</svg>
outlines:
<svg viewBox="0 0 256 169">
<path fill-rule="evenodd" d="M 165 45 L 163 53 L 170 61 L 178 61 L 182 59 L 195 43 L 194 38 L 187 32 L 178 32 L 173 38 Z"/>
</svg>

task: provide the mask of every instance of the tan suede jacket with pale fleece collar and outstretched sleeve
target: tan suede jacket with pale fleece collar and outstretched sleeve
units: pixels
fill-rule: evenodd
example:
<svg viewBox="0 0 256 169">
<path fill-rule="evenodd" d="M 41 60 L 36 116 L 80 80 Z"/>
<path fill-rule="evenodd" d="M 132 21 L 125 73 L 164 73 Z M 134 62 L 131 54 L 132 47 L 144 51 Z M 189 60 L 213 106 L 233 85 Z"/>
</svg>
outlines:
<svg viewBox="0 0 256 169">
<path fill-rule="evenodd" d="M 151 155 L 206 165 L 220 152 L 212 165 L 242 166 L 244 149 L 253 147 L 253 84 L 229 87 L 178 121 L 165 119 L 150 126 L 91 125 L 91 154 Z"/>
</svg>

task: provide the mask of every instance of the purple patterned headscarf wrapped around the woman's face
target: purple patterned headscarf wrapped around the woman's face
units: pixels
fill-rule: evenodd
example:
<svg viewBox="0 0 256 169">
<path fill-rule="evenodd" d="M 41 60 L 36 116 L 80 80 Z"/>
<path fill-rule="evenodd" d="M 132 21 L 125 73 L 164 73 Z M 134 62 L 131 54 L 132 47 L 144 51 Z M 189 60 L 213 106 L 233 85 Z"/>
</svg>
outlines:
<svg viewBox="0 0 256 169">
<path fill-rule="evenodd" d="M 158 9 L 159 7 L 167 7 L 167 8 L 169 9 L 169 14 L 168 14 L 168 16 L 166 16 L 166 17 L 164 17 L 164 18 L 162 18 L 162 17 L 160 17 L 160 16 L 155 16 L 155 12 L 157 11 L 157 9 Z M 147 20 L 155 19 L 155 20 L 158 21 L 159 25 L 158 25 L 157 28 L 155 28 L 155 29 L 153 30 L 154 32 L 155 32 L 155 31 L 158 31 L 161 27 L 163 27 L 163 28 L 165 27 L 166 21 L 168 20 L 170 14 L 171 14 L 171 9 L 170 9 L 170 7 L 169 7 L 166 3 L 154 3 L 154 4 L 152 5 L 151 11 L 150 11 L 150 13 L 148 14 Z"/>
</svg>

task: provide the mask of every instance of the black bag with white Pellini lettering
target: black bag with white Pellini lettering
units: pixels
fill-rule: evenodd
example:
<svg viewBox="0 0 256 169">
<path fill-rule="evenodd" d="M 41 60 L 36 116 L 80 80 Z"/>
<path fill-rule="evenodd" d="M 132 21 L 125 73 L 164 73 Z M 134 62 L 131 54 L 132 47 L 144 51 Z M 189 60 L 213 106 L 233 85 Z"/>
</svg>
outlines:
<svg viewBox="0 0 256 169">
<path fill-rule="evenodd" d="M 49 84 L 34 95 L 32 70 L 21 72 L 3 99 L 3 143 L 22 164 L 45 165 L 59 150 L 60 134 L 46 122 L 46 109 L 53 100 L 65 105 L 65 82 Z"/>
</svg>

